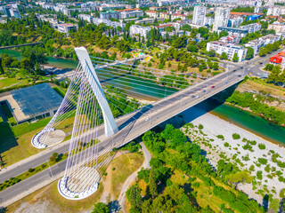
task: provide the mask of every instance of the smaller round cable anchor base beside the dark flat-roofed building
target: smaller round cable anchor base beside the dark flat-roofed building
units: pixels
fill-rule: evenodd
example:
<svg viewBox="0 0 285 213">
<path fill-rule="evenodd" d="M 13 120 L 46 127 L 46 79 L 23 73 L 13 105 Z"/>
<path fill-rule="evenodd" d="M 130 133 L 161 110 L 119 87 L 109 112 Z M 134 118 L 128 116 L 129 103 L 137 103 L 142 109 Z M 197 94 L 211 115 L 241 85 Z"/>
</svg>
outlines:
<svg viewBox="0 0 285 213">
<path fill-rule="evenodd" d="M 65 132 L 62 130 L 41 130 L 32 138 L 31 143 L 36 148 L 43 149 L 49 145 L 60 143 L 64 138 Z"/>
</svg>

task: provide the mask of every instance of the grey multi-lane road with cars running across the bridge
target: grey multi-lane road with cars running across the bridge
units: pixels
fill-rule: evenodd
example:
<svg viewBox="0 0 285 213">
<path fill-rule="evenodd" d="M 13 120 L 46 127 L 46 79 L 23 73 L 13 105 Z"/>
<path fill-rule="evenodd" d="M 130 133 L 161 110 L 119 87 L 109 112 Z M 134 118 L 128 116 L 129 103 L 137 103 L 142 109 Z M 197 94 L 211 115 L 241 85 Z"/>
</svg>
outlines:
<svg viewBox="0 0 285 213">
<path fill-rule="evenodd" d="M 202 83 L 198 83 L 185 90 L 177 91 L 174 94 L 168 96 L 165 99 L 160 99 L 149 106 L 144 106 L 141 109 L 134 111 L 131 114 L 126 114 L 116 120 L 118 123 L 119 131 L 113 137 L 106 138 L 102 135 L 101 143 L 99 144 L 99 150 L 103 150 L 106 147 L 123 146 L 126 143 L 132 141 L 134 138 L 139 137 L 147 130 L 159 125 L 159 123 L 165 122 L 176 114 L 182 113 L 184 110 L 191 106 L 197 105 L 199 102 L 208 99 L 220 91 L 232 86 L 235 83 L 239 83 L 243 80 L 242 70 L 236 72 L 225 72 L 219 75 L 215 75 Z M 214 87 L 213 87 L 214 86 Z M 143 114 L 141 113 L 143 112 Z M 102 128 L 102 127 L 101 127 Z M 103 133 L 103 130 L 100 131 Z M 16 175 L 27 171 L 29 168 L 34 168 L 40 165 L 48 159 L 53 152 L 59 154 L 66 153 L 69 150 L 69 144 L 61 146 L 58 149 L 54 149 L 52 152 L 46 152 L 45 154 L 38 154 L 37 159 L 28 161 L 20 165 L 19 168 L 13 170 L 2 171 L 0 175 L 1 182 L 9 177 L 15 177 Z M 86 150 L 85 150 L 86 151 Z M 65 170 L 66 161 L 60 162 L 51 167 L 53 175 L 61 173 Z M 0 198 L 3 202 L 9 201 L 20 192 L 26 192 L 31 186 L 42 183 L 46 178 L 50 178 L 50 170 L 44 170 L 33 177 L 5 189 L 0 192 Z"/>
</svg>

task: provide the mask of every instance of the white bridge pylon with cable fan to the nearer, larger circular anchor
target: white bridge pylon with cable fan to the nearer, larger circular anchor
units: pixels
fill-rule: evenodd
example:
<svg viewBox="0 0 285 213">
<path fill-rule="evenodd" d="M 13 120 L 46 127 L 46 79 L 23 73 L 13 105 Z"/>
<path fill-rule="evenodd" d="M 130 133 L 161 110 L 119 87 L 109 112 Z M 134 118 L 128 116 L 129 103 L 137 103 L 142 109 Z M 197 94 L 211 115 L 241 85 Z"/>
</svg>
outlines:
<svg viewBox="0 0 285 213">
<path fill-rule="evenodd" d="M 118 132 L 88 52 L 84 47 L 75 51 L 81 65 L 81 75 L 76 79 L 77 110 L 65 173 L 58 183 L 59 193 L 69 200 L 84 199 L 97 191 L 103 166 L 111 157 L 111 147 L 100 147 L 101 118 L 107 137 Z"/>
</svg>

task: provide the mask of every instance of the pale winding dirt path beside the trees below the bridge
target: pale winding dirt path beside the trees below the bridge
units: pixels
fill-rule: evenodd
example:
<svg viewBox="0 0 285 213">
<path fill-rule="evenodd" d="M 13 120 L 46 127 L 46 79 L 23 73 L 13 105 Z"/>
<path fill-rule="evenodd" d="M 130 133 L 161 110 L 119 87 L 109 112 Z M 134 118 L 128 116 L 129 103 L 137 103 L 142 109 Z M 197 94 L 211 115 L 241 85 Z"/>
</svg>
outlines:
<svg viewBox="0 0 285 213">
<path fill-rule="evenodd" d="M 136 176 L 137 176 L 137 172 L 140 171 L 143 168 L 151 168 L 150 166 L 150 161 L 151 161 L 151 153 L 149 152 L 149 150 L 146 148 L 146 146 L 143 143 L 140 143 L 140 145 L 142 146 L 142 153 L 144 156 L 144 161 L 142 162 L 142 166 L 134 171 L 134 173 L 132 175 L 130 175 L 129 177 L 126 178 L 126 181 L 124 183 L 124 185 L 122 185 L 122 189 L 121 192 L 118 196 L 118 210 L 125 212 L 124 206 L 125 206 L 125 201 L 126 201 L 126 190 L 129 188 L 129 186 L 134 182 Z M 111 212 L 116 212 L 113 211 L 111 209 Z"/>
</svg>

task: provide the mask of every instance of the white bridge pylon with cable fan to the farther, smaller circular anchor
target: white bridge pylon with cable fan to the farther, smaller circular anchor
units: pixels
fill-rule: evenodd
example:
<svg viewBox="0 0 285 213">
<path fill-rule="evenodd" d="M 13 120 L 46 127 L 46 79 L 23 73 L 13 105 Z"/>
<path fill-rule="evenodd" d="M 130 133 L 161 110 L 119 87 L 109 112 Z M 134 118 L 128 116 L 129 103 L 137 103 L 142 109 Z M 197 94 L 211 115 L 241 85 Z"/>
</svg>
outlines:
<svg viewBox="0 0 285 213">
<path fill-rule="evenodd" d="M 118 126 L 111 113 L 110 106 L 104 95 L 88 52 L 84 47 L 75 48 L 75 51 L 79 59 L 79 64 L 75 74 L 72 76 L 69 89 L 61 102 L 61 106 L 53 115 L 53 119 L 45 126 L 45 129 L 38 132 L 31 140 L 32 145 L 38 149 L 53 146 L 65 138 L 65 133 L 62 130 L 56 130 L 56 127 L 73 114 L 76 114 L 78 95 L 83 88 L 82 79 L 85 79 L 89 83 L 90 89 L 93 91 L 94 97 L 102 110 L 105 135 L 109 137 L 118 132 Z"/>
</svg>

